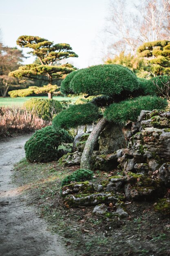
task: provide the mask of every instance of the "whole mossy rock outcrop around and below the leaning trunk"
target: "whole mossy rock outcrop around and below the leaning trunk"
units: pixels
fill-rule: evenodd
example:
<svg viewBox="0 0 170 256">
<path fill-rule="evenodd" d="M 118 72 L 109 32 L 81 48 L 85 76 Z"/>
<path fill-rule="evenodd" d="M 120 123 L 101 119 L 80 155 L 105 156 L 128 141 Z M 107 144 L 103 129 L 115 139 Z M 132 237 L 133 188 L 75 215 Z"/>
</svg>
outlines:
<svg viewBox="0 0 170 256">
<path fill-rule="evenodd" d="M 94 214 L 107 218 L 117 214 L 119 218 L 126 218 L 126 200 L 159 199 L 154 205 L 155 211 L 170 213 L 170 200 L 163 198 L 170 194 L 170 112 L 141 111 L 138 121 L 128 123 L 123 132 L 127 148 L 103 155 L 94 151 L 91 162 L 93 170 L 114 170 L 115 175 L 102 180 L 98 186 L 92 182 L 64 186 L 62 196 L 66 207 L 95 206 Z M 59 161 L 68 165 L 76 159 L 77 163 L 81 154 L 76 151 Z"/>
</svg>

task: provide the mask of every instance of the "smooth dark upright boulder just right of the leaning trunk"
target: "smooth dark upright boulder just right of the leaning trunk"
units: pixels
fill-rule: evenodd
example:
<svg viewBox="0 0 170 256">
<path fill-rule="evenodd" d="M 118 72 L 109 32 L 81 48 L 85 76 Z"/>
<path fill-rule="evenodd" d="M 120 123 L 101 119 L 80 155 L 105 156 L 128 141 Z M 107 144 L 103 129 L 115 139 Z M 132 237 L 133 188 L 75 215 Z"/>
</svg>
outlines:
<svg viewBox="0 0 170 256">
<path fill-rule="evenodd" d="M 122 126 L 116 124 L 108 124 L 100 133 L 99 152 L 101 154 L 111 154 L 114 151 L 125 148 L 127 146 Z"/>
</svg>

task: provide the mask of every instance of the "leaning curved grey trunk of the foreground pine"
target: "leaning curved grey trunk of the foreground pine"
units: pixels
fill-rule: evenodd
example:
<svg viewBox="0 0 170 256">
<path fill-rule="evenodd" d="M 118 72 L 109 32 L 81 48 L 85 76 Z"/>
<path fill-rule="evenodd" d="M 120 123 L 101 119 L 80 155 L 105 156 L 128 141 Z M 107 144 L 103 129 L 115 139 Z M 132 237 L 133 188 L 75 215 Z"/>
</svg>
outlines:
<svg viewBox="0 0 170 256">
<path fill-rule="evenodd" d="M 82 158 L 80 162 L 80 168 L 82 169 L 90 169 L 91 168 L 91 156 L 93 153 L 93 149 L 95 146 L 95 143 L 100 135 L 100 132 L 104 129 L 108 121 L 103 117 L 99 120 L 95 128 L 93 128 L 93 131 L 88 136 L 88 139 L 86 141 L 86 145 L 84 147 Z"/>
</svg>

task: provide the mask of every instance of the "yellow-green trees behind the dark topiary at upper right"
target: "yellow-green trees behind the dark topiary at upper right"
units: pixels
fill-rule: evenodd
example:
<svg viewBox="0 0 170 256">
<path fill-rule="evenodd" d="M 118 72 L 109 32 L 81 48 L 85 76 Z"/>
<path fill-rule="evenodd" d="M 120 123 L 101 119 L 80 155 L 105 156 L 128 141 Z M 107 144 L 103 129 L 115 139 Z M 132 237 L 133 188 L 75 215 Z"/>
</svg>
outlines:
<svg viewBox="0 0 170 256">
<path fill-rule="evenodd" d="M 157 40 L 144 43 L 137 49 L 137 54 L 121 52 L 114 58 L 108 58 L 106 64 L 119 64 L 130 68 L 138 77 L 149 73 L 154 75 L 170 72 L 170 41 Z"/>
</svg>

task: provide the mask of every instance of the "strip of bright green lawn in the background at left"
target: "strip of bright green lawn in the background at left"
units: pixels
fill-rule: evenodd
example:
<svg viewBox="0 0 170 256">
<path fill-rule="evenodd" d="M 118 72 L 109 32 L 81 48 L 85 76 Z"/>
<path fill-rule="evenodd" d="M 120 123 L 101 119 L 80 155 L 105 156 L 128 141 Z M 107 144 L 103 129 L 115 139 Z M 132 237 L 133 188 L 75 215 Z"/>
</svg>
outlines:
<svg viewBox="0 0 170 256">
<path fill-rule="evenodd" d="M 0 97 L 0 106 L 22 106 L 22 104 L 31 98 L 41 98 L 41 99 L 48 99 L 47 96 L 37 96 L 37 97 L 6 97 L 2 98 Z M 68 101 L 71 100 L 73 103 L 77 100 L 77 97 L 70 98 L 70 97 L 61 97 L 61 96 L 54 96 L 53 99 L 56 99 L 57 101 Z"/>
</svg>

